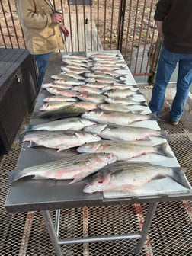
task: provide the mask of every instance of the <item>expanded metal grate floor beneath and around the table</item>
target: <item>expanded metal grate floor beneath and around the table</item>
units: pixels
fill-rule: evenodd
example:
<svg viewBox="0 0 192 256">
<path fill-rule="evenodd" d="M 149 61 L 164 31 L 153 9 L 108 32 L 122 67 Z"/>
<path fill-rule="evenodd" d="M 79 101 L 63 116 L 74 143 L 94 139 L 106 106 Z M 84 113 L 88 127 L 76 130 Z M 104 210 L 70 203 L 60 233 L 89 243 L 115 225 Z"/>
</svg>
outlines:
<svg viewBox="0 0 192 256">
<path fill-rule="evenodd" d="M 169 142 L 181 166 L 187 167 L 187 178 L 192 184 L 191 134 L 184 123 L 181 126 L 168 126 L 172 141 Z M 28 123 L 29 119 L 25 120 Z M 168 124 L 167 124 L 168 125 Z M 166 129 L 166 124 L 160 124 Z M 163 128 L 164 126 L 164 128 Z M 23 126 L 21 126 L 21 129 Z M 7 171 L 16 167 L 21 146 L 14 141 L 8 155 L 1 158 L 0 183 L 7 178 Z M 46 231 L 40 212 L 5 212 L 4 203 L 8 187 L 0 188 L 0 254 L 2 256 L 55 256 L 53 245 Z M 117 235 L 139 232 L 146 214 L 147 204 L 84 207 L 61 210 L 59 238 L 82 236 Z M 140 256 L 191 256 L 190 201 L 159 203 L 149 235 Z M 52 211 L 54 218 L 56 211 Z M 92 242 L 78 245 L 62 245 L 66 256 L 133 256 L 137 240 L 118 240 L 113 242 Z"/>
</svg>

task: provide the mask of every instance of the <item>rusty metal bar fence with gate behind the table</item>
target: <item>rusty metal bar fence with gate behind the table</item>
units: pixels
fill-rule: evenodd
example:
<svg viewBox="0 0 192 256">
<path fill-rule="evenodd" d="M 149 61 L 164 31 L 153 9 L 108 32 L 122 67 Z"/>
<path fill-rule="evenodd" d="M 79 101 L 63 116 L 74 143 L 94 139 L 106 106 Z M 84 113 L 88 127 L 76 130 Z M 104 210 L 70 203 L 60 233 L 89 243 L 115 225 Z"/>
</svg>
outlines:
<svg viewBox="0 0 192 256">
<path fill-rule="evenodd" d="M 52 2 L 71 32 L 66 51 L 120 50 L 133 75 L 152 75 L 158 55 L 155 0 Z M 0 17 L 0 47 L 26 48 L 14 0 L 1 0 Z"/>
</svg>

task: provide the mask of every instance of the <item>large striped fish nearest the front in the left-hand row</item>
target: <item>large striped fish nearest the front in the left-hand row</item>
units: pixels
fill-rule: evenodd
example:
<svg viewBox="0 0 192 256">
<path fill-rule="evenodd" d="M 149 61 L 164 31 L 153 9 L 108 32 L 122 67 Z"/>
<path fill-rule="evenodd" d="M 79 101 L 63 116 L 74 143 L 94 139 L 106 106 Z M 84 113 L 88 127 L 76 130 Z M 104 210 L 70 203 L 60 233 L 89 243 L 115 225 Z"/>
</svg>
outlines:
<svg viewBox="0 0 192 256">
<path fill-rule="evenodd" d="M 61 158 L 40 165 L 29 166 L 21 170 L 10 171 L 8 173 L 8 181 L 3 186 L 29 176 L 33 179 L 72 180 L 71 184 L 82 181 L 88 175 L 116 160 L 117 158 L 114 155 L 102 153 Z"/>
</svg>

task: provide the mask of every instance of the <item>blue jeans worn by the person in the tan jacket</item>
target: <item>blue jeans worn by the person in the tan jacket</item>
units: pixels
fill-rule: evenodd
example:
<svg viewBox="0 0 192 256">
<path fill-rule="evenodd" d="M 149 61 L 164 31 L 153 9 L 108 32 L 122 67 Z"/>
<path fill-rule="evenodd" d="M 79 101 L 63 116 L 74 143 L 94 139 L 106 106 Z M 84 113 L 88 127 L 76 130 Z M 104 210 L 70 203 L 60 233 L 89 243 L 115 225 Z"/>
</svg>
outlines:
<svg viewBox="0 0 192 256">
<path fill-rule="evenodd" d="M 46 72 L 46 67 L 49 63 L 51 53 L 46 54 L 35 54 L 34 59 L 37 62 L 37 68 L 38 68 L 38 86 L 42 85 L 43 78 Z"/>
</svg>

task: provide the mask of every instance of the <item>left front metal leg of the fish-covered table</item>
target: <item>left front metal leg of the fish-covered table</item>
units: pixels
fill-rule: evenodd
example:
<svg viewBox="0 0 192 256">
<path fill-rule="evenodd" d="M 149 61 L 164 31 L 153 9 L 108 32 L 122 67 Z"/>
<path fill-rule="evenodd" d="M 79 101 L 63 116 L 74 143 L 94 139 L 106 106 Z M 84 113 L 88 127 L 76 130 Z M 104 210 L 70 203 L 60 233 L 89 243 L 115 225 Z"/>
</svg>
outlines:
<svg viewBox="0 0 192 256">
<path fill-rule="evenodd" d="M 46 228 L 50 234 L 51 241 L 53 242 L 53 246 L 55 248 L 56 256 L 63 256 L 61 246 L 59 245 L 59 240 L 56 235 L 56 230 L 54 229 L 53 225 L 53 219 L 50 216 L 50 211 L 49 210 L 43 210 L 41 211 L 43 215 L 43 219 L 46 224 Z"/>
</svg>

